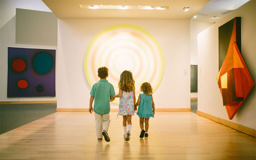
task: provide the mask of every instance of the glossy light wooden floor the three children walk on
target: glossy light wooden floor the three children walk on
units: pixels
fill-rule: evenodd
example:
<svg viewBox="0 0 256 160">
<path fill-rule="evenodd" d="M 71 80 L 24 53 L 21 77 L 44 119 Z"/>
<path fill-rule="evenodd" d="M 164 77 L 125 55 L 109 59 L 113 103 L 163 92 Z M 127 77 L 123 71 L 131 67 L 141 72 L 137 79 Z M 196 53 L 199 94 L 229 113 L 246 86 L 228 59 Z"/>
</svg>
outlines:
<svg viewBox="0 0 256 160">
<path fill-rule="evenodd" d="M 131 139 L 123 139 L 122 117 L 110 112 L 110 142 L 98 142 L 94 114 L 56 112 L 0 135 L 1 160 L 255 160 L 255 138 L 192 112 L 157 112 L 149 137 L 139 138 L 132 117 Z"/>
</svg>

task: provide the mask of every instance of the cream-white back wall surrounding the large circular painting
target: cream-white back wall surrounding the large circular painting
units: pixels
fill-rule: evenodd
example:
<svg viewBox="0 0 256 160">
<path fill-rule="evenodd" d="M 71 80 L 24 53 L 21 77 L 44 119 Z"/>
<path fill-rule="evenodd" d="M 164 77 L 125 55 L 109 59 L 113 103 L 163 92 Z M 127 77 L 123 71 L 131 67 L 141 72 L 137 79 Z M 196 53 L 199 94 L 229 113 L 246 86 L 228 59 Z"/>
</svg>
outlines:
<svg viewBox="0 0 256 160">
<path fill-rule="evenodd" d="M 91 87 L 84 73 L 86 49 L 99 32 L 118 24 L 146 30 L 162 49 L 165 66 L 153 93 L 156 108 L 190 108 L 190 20 L 100 18 L 58 19 L 57 108 L 88 108 Z M 118 105 L 111 103 L 111 108 Z"/>
</svg>

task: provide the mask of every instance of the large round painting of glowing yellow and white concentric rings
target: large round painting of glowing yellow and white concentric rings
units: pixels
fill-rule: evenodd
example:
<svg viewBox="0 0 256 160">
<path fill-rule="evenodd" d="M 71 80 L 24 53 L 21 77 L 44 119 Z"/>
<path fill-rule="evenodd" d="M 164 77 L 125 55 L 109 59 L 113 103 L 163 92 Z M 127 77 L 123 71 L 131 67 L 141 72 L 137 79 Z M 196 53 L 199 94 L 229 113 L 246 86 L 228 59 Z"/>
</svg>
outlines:
<svg viewBox="0 0 256 160">
<path fill-rule="evenodd" d="M 118 81 L 124 70 L 130 70 L 135 80 L 136 98 L 140 85 L 149 82 L 156 90 L 164 72 L 162 50 L 155 38 L 144 29 L 133 25 L 115 25 L 101 31 L 89 44 L 84 71 L 92 87 L 99 81 L 97 70 L 106 66 L 107 80 L 118 93 Z M 116 98 L 113 103 L 119 103 Z"/>
</svg>

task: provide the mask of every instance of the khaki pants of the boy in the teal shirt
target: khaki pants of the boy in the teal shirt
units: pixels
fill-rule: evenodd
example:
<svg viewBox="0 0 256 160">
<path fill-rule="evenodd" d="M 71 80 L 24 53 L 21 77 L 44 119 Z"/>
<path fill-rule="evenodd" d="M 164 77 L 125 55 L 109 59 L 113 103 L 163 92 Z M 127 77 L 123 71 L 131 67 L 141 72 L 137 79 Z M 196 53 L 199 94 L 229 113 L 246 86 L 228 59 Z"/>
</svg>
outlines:
<svg viewBox="0 0 256 160">
<path fill-rule="evenodd" d="M 97 114 L 95 115 L 95 125 L 96 125 L 96 134 L 98 138 L 102 138 L 102 131 L 108 132 L 108 127 L 110 123 L 109 113 L 108 114 Z"/>
</svg>

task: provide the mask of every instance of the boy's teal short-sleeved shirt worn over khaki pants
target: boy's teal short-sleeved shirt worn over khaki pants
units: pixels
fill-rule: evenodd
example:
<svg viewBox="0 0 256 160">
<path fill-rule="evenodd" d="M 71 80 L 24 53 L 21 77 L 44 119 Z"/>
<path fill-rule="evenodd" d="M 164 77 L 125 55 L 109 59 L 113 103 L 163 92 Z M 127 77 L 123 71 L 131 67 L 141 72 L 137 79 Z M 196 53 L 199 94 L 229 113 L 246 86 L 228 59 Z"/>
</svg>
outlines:
<svg viewBox="0 0 256 160">
<path fill-rule="evenodd" d="M 105 79 L 92 86 L 91 96 L 94 97 L 93 110 L 97 114 L 108 114 L 110 111 L 109 97 L 115 95 L 114 87 Z"/>
</svg>

